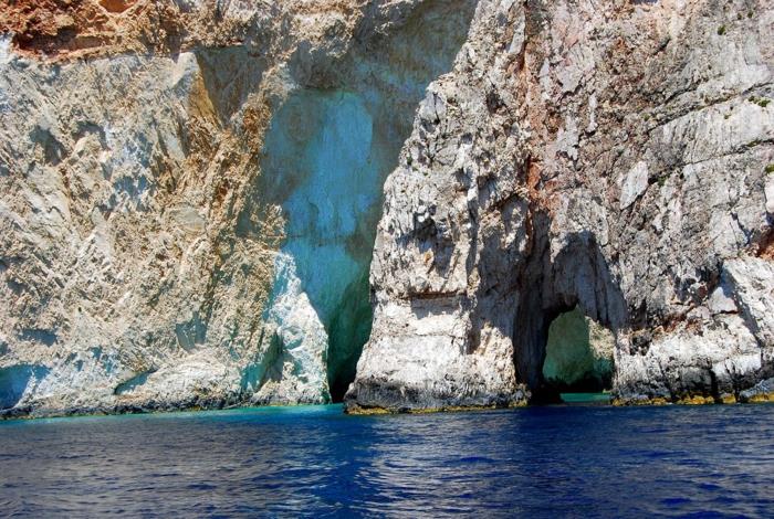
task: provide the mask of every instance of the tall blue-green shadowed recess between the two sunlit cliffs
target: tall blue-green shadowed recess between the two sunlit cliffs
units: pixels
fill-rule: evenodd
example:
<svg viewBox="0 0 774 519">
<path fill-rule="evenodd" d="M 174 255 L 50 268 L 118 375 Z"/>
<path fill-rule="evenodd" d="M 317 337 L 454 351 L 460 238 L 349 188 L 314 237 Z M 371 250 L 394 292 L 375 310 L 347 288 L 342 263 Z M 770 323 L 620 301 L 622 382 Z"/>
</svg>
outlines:
<svg viewBox="0 0 774 519">
<path fill-rule="evenodd" d="M 305 64 L 315 62 L 295 56 L 291 71 L 307 87 L 291 93 L 270 124 L 250 194 L 254 203 L 239 215 L 237 234 L 261 232 L 261 204 L 282 206 L 281 252 L 292 256 L 301 289 L 327 332 L 334 401 L 354 380 L 370 335 L 368 271 L 384 182 L 427 86 L 451 70 L 475 3 L 423 2 L 397 13 L 398 29 L 388 35 L 360 27 L 354 51 L 327 68 L 310 71 Z"/>
</svg>

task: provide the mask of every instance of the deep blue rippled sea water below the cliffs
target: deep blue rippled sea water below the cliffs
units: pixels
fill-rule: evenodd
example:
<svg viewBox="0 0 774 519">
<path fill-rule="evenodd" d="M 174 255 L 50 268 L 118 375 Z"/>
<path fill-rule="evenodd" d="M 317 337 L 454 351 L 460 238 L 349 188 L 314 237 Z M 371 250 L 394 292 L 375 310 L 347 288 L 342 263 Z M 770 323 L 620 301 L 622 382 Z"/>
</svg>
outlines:
<svg viewBox="0 0 774 519">
<path fill-rule="evenodd" d="M 774 406 L 0 423 L 0 515 L 774 516 Z"/>
</svg>

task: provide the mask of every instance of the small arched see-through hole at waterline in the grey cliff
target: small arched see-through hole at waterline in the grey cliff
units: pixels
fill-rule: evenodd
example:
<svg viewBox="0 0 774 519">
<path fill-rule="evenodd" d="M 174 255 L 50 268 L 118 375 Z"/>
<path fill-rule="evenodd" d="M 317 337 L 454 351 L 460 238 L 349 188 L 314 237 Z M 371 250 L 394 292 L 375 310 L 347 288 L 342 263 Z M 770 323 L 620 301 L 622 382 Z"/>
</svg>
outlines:
<svg viewBox="0 0 774 519">
<path fill-rule="evenodd" d="M 608 401 L 613 388 L 615 337 L 579 307 L 548 326 L 542 375 L 545 394 L 567 403 Z"/>
</svg>

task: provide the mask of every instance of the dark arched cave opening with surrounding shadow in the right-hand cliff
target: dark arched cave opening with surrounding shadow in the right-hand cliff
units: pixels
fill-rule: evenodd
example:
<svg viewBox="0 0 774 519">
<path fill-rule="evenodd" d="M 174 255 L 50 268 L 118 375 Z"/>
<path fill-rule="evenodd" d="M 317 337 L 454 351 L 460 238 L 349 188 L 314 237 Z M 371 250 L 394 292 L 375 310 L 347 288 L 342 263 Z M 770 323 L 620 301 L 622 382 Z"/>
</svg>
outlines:
<svg viewBox="0 0 774 519">
<path fill-rule="evenodd" d="M 531 403 L 613 388 L 615 330 L 627 307 L 602 246 L 588 232 L 563 236 L 551 251 L 551 218 L 533 218 L 534 245 L 521 273 L 514 362 Z M 554 248 L 555 248 L 554 243 Z"/>
</svg>

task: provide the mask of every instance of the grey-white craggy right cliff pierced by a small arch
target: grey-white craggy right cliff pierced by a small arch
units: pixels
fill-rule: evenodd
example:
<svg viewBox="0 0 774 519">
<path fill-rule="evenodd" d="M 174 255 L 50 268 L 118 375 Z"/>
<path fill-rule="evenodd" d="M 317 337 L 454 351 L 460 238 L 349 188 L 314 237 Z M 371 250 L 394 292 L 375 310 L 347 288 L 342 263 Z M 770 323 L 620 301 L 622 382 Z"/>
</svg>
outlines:
<svg viewBox="0 0 774 519">
<path fill-rule="evenodd" d="M 773 34 L 764 1 L 480 1 L 386 182 L 348 411 L 537 398 L 575 307 L 619 402 L 772 377 Z"/>
</svg>

